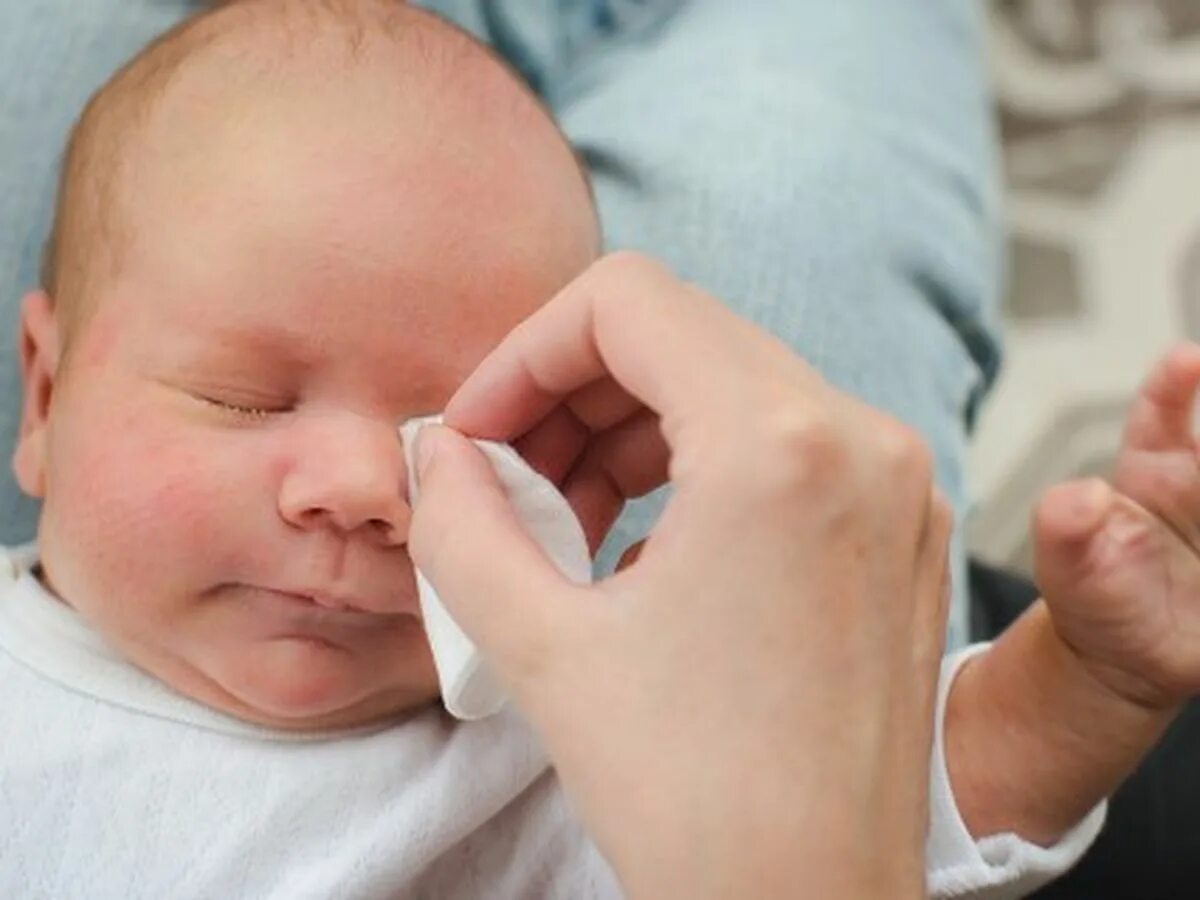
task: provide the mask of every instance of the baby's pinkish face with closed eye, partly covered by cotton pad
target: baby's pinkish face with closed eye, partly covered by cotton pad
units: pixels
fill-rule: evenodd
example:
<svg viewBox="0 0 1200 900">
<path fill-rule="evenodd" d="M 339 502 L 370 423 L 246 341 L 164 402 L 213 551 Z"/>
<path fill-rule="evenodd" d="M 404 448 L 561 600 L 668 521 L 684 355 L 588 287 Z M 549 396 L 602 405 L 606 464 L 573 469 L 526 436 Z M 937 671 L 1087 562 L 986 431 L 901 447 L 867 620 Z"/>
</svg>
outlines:
<svg viewBox="0 0 1200 900">
<path fill-rule="evenodd" d="M 332 727 L 437 692 L 397 425 L 442 409 L 594 235 L 563 148 L 284 133 L 143 179 L 55 382 L 40 541 L 50 587 L 139 666 Z"/>
</svg>

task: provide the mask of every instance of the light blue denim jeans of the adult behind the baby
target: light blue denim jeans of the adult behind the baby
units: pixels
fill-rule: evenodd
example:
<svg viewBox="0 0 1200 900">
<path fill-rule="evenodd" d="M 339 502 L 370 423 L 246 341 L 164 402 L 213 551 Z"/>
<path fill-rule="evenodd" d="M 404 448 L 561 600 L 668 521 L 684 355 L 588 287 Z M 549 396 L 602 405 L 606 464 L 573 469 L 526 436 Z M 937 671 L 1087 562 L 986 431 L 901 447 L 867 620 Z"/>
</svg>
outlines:
<svg viewBox="0 0 1200 900">
<path fill-rule="evenodd" d="M 610 247 L 636 247 L 912 424 L 961 517 L 996 366 L 994 140 L 970 0 L 426 0 L 491 40 L 589 160 Z M 0 328 L 36 283 L 86 96 L 182 0 L 10 4 L 0 29 Z M 0 442 L 16 433 L 14 340 Z M 737 422 L 730 422 L 737 428 Z M 644 530 L 631 510 L 600 565 Z M 35 508 L 0 480 L 0 541 Z M 966 635 L 955 545 L 950 643 Z"/>
</svg>

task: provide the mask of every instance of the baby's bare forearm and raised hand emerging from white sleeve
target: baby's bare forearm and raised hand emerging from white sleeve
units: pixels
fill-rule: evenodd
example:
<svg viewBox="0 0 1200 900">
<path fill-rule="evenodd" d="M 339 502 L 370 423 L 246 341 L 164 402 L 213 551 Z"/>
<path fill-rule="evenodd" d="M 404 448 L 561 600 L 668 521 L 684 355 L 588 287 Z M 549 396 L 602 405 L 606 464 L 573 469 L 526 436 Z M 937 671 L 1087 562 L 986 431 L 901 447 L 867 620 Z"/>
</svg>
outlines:
<svg viewBox="0 0 1200 900">
<path fill-rule="evenodd" d="M 961 670 L 946 755 L 977 838 L 1049 845 L 1110 794 L 1200 691 L 1200 348 L 1154 371 L 1111 486 L 1062 485 L 1036 521 L 1043 599 Z"/>
</svg>

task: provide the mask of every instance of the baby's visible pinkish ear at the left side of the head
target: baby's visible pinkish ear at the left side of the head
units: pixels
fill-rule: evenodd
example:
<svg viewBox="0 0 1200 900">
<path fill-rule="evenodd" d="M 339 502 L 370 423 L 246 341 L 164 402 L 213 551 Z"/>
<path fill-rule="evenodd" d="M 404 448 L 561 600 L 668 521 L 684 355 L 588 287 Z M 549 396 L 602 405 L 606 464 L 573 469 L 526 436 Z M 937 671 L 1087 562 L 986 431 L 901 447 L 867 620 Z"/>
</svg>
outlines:
<svg viewBox="0 0 1200 900">
<path fill-rule="evenodd" d="M 59 368 L 59 322 L 54 301 L 34 290 L 20 302 L 20 432 L 12 455 L 17 484 L 30 497 L 46 493 L 46 428 Z"/>
</svg>

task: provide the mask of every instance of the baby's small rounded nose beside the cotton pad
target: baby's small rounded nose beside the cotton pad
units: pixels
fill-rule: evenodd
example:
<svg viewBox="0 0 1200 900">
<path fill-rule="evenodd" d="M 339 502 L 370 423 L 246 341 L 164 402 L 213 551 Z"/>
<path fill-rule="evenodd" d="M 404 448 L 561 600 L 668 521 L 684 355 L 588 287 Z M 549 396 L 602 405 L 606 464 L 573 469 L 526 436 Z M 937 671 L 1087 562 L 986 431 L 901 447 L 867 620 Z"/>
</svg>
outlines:
<svg viewBox="0 0 1200 900">
<path fill-rule="evenodd" d="M 280 515 L 298 528 L 365 532 L 380 544 L 408 538 L 404 456 L 386 422 L 329 418 L 307 430 L 280 488 Z"/>
</svg>

